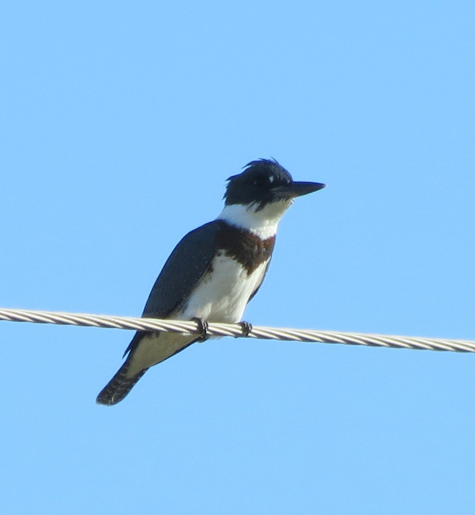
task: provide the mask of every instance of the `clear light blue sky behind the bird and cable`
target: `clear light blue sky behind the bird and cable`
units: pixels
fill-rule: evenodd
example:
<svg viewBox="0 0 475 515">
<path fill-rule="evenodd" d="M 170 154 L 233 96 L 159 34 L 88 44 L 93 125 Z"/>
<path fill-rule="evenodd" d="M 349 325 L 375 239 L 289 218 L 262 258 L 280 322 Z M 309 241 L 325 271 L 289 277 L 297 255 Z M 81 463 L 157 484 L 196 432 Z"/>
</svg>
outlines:
<svg viewBox="0 0 475 515">
<path fill-rule="evenodd" d="M 246 319 L 475 339 L 470 2 L 6 2 L 0 306 L 140 315 L 225 179 L 328 187 Z M 5 513 L 473 513 L 469 354 L 0 323 Z"/>
</svg>

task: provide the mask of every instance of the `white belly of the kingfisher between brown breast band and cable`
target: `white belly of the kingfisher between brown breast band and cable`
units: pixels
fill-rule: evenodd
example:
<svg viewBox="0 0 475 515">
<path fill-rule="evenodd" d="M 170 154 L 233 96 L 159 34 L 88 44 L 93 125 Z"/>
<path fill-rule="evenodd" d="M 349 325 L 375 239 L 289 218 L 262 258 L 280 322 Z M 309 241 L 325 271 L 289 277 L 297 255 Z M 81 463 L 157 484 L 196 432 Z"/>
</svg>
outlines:
<svg viewBox="0 0 475 515">
<path fill-rule="evenodd" d="M 239 322 L 249 297 L 264 277 L 267 261 L 249 276 L 246 269 L 222 251 L 211 263 L 211 273 L 203 278 L 179 318 L 193 317 L 210 322 Z"/>
</svg>

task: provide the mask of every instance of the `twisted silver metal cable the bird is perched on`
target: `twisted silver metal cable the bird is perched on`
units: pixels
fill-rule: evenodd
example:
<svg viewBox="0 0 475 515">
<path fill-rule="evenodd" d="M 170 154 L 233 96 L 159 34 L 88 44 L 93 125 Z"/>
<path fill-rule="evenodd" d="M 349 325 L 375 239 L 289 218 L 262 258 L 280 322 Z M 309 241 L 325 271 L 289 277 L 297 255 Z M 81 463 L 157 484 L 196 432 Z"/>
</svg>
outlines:
<svg viewBox="0 0 475 515">
<path fill-rule="evenodd" d="M 0 308 L 0 320 L 11 322 L 53 323 L 60 325 L 86 325 L 138 331 L 161 331 L 199 334 L 198 323 L 185 320 L 163 320 L 158 318 L 120 317 L 110 315 L 89 315 L 83 313 L 62 313 L 54 311 L 12 310 Z M 243 336 L 240 324 L 210 323 L 210 336 Z M 342 333 L 337 331 L 315 331 L 309 329 L 287 329 L 253 325 L 249 338 L 268 340 L 308 341 L 325 344 L 366 345 L 394 347 L 398 349 L 426 349 L 433 351 L 475 352 L 475 341 L 446 338 L 425 338 L 419 336 L 393 336 L 384 334 Z"/>
</svg>

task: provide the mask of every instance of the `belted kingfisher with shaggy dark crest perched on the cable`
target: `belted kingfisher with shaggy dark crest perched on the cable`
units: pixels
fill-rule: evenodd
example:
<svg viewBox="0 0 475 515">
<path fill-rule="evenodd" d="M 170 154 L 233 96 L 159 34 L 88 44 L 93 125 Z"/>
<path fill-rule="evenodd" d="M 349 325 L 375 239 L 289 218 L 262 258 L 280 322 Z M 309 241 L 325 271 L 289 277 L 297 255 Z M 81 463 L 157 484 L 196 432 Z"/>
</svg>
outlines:
<svg viewBox="0 0 475 515">
<path fill-rule="evenodd" d="M 97 396 L 98 404 L 117 404 L 151 366 L 207 339 L 207 322 L 239 322 L 269 268 L 280 218 L 295 197 L 325 187 L 295 182 L 275 160 L 251 161 L 244 168 L 227 179 L 219 216 L 186 234 L 175 247 L 142 314 L 195 319 L 202 334 L 137 331 L 124 364 Z M 248 334 L 250 324 L 242 324 Z"/>
</svg>

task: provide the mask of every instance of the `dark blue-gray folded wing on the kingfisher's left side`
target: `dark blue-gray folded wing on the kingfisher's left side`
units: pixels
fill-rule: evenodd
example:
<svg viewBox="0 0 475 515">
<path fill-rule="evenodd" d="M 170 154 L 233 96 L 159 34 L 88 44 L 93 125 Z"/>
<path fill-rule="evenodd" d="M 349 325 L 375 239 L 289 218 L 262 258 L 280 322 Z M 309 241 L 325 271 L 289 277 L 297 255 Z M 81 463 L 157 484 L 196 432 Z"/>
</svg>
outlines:
<svg viewBox="0 0 475 515">
<path fill-rule="evenodd" d="M 143 317 L 166 318 L 184 304 L 216 254 L 221 226 L 214 220 L 181 239 L 150 291 Z"/>
</svg>

